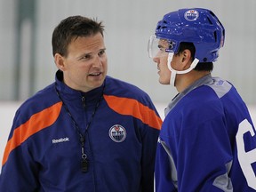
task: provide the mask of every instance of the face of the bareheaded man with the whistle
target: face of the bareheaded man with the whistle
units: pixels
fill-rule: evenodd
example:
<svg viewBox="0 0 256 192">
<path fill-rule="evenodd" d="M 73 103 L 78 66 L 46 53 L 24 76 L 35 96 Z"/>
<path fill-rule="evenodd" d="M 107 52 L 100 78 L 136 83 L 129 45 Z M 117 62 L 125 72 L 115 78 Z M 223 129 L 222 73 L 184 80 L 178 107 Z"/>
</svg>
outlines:
<svg viewBox="0 0 256 192">
<path fill-rule="evenodd" d="M 68 56 L 55 56 L 57 67 L 63 71 L 64 83 L 69 87 L 89 92 L 103 84 L 108 70 L 103 36 L 80 36 L 68 45 Z M 60 62 L 61 61 L 61 62 Z"/>
</svg>

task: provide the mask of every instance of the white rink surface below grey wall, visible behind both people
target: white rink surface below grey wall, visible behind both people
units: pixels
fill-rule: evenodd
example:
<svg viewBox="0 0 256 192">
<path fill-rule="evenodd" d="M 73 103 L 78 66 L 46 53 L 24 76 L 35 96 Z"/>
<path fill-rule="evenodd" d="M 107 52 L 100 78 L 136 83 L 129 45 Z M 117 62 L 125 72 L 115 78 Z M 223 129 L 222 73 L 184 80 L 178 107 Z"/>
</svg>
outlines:
<svg viewBox="0 0 256 192">
<path fill-rule="evenodd" d="M 156 103 L 156 109 L 159 112 L 159 115 L 164 119 L 164 108 L 166 107 L 167 103 Z M 1 116 L 1 128 L 0 128 L 0 159 L 2 164 L 2 158 L 4 155 L 4 148 L 6 145 L 6 141 L 9 136 L 9 132 L 12 127 L 12 119 L 13 116 L 19 108 L 20 102 L 0 102 L 0 116 Z M 252 116 L 252 121 L 256 124 L 256 106 L 249 106 L 248 107 Z M 0 170 L 1 172 L 1 170 Z"/>
</svg>

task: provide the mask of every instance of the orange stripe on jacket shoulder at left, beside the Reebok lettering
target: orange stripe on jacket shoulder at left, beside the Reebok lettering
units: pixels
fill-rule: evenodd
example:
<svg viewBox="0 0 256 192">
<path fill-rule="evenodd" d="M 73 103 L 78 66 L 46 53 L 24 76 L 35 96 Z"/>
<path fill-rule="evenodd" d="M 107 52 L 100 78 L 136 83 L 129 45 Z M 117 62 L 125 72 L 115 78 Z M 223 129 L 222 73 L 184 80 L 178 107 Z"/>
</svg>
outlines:
<svg viewBox="0 0 256 192">
<path fill-rule="evenodd" d="M 53 124 L 60 115 L 61 106 L 62 102 L 58 102 L 50 108 L 45 108 L 43 111 L 31 116 L 25 124 L 17 127 L 12 134 L 12 138 L 6 144 L 2 165 L 6 163 L 8 156 L 14 148 L 20 146 L 31 135 Z"/>
</svg>

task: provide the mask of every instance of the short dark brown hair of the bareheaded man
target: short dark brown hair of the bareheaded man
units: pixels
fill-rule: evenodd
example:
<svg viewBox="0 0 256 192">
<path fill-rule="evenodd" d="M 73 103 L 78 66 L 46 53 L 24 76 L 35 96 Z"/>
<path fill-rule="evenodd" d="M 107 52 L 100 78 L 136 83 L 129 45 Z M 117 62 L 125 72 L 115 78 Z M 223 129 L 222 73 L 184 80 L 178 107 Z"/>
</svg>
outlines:
<svg viewBox="0 0 256 192">
<path fill-rule="evenodd" d="M 52 54 L 54 56 L 58 52 L 67 56 L 68 44 L 72 40 L 79 36 L 93 36 L 99 32 L 103 36 L 104 26 L 96 19 L 76 15 L 61 20 L 52 33 Z"/>
</svg>

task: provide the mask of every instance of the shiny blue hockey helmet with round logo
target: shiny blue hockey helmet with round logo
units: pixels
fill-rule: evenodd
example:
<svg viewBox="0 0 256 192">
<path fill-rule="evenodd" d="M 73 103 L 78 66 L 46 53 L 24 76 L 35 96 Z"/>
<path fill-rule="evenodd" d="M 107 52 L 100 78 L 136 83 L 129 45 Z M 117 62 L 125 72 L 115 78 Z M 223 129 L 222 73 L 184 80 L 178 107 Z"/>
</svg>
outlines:
<svg viewBox="0 0 256 192">
<path fill-rule="evenodd" d="M 166 52 L 177 53 L 180 43 L 193 43 L 199 62 L 212 62 L 219 57 L 225 40 L 225 29 L 217 16 L 203 8 L 180 9 L 158 21 L 155 37 L 170 42 Z M 152 38 L 151 38 L 152 39 Z"/>
</svg>

